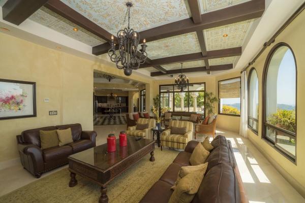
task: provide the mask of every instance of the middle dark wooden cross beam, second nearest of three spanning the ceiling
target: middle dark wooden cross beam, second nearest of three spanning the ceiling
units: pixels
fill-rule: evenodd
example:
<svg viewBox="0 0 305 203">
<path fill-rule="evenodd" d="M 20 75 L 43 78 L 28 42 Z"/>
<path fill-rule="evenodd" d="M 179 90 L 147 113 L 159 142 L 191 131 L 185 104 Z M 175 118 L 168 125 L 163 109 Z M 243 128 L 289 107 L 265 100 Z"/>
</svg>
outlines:
<svg viewBox="0 0 305 203">
<path fill-rule="evenodd" d="M 169 63 L 188 62 L 188 61 L 205 60 L 212 58 L 224 58 L 224 57 L 240 56 L 240 55 L 241 55 L 241 47 L 235 47 L 230 49 L 207 51 L 206 56 L 202 56 L 202 53 L 198 52 L 192 54 L 153 59 L 150 61 L 150 64 L 144 63 L 140 66 L 140 68 L 150 67 L 154 65 L 165 65 Z"/>
</svg>

